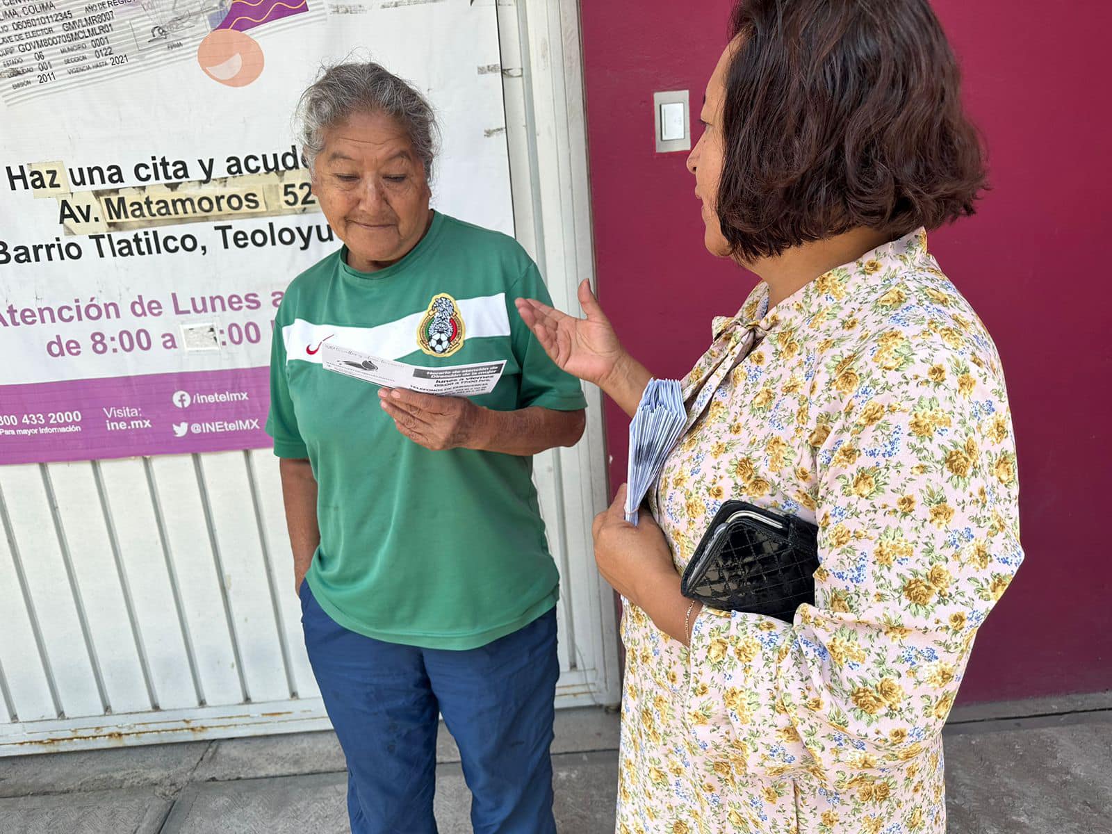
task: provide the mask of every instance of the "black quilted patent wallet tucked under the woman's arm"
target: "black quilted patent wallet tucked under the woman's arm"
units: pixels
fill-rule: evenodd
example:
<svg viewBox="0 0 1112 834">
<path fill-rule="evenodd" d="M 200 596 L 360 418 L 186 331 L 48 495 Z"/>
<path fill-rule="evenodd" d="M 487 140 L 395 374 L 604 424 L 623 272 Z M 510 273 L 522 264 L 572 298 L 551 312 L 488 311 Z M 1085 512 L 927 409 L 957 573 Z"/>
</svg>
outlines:
<svg viewBox="0 0 1112 834">
<path fill-rule="evenodd" d="M 681 590 L 719 610 L 791 623 L 815 602 L 818 527 L 745 502 L 722 505 L 684 570 Z"/>
</svg>

